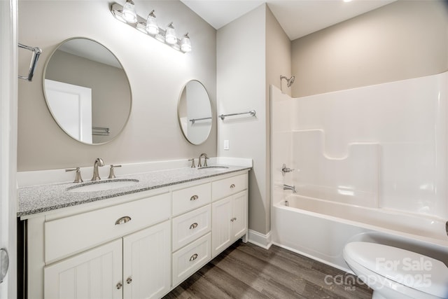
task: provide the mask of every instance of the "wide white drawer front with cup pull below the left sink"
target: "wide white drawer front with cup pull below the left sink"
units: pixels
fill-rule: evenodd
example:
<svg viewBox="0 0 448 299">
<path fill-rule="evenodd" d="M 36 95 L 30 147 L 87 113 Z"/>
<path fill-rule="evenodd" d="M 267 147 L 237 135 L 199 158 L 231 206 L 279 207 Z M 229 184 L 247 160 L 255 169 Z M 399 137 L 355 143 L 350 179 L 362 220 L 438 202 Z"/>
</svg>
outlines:
<svg viewBox="0 0 448 299">
<path fill-rule="evenodd" d="M 45 262 L 167 220 L 170 207 L 169 193 L 165 193 L 47 221 L 44 224 Z"/>
</svg>

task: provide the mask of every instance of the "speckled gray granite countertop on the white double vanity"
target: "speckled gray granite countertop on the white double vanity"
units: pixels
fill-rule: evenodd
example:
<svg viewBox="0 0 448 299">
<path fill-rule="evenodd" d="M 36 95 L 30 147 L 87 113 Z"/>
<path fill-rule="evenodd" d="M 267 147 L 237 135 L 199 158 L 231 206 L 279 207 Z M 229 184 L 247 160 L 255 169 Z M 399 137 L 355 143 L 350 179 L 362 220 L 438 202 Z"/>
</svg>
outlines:
<svg viewBox="0 0 448 299">
<path fill-rule="evenodd" d="M 230 166 L 225 169 L 197 169 L 179 168 L 146 172 L 144 174 L 132 174 L 117 176 L 116 179 L 102 179 L 101 181 L 85 181 L 84 183 L 54 183 L 40 186 L 29 186 L 18 189 L 18 213 L 17 216 L 28 216 L 45 211 L 62 209 L 87 202 L 105 200 L 120 195 L 128 195 L 141 191 L 152 190 L 167 186 L 197 181 L 213 176 L 220 176 L 241 170 L 249 170 L 251 167 Z M 132 186 L 114 188 L 111 190 L 101 190 L 93 192 L 68 192 L 67 189 L 79 186 L 80 184 L 104 183 L 106 181 L 130 181 L 138 180 Z"/>
</svg>

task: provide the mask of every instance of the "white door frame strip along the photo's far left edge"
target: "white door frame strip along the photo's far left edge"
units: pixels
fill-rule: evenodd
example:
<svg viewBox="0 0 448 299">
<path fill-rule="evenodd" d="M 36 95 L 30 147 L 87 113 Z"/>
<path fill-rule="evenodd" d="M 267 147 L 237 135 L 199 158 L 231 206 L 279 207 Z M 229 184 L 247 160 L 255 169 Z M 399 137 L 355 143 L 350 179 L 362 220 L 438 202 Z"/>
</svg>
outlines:
<svg viewBox="0 0 448 299">
<path fill-rule="evenodd" d="M 17 298 L 17 5 L 17 0 L 0 0 L 0 248 L 9 256 L 0 299 Z"/>
</svg>

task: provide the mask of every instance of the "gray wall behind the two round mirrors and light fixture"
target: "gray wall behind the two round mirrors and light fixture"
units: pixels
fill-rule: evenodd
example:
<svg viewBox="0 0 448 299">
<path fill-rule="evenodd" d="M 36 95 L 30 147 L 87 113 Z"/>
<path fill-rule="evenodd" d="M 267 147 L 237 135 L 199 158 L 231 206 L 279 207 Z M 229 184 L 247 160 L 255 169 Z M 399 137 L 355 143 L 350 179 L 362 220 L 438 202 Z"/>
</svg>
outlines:
<svg viewBox="0 0 448 299">
<path fill-rule="evenodd" d="M 193 51 L 183 54 L 113 18 L 110 4 L 107 0 L 19 1 L 19 41 L 41 47 L 43 54 L 33 81 L 19 82 L 18 171 L 91 166 L 97 157 L 115 164 L 187 159 L 203 152 L 216 155 L 216 120 L 211 137 L 200 146 L 183 138 L 177 120 L 181 88 L 190 79 L 202 81 L 216 105 L 216 30 L 180 1 L 136 0 L 139 15 L 155 9 L 161 27 L 174 22 L 178 36 L 190 33 Z M 109 144 L 89 146 L 71 139 L 45 104 L 43 65 L 60 42 L 73 36 L 109 48 L 130 79 L 130 120 Z M 20 50 L 20 73 L 28 67 L 29 51 Z"/>
</svg>

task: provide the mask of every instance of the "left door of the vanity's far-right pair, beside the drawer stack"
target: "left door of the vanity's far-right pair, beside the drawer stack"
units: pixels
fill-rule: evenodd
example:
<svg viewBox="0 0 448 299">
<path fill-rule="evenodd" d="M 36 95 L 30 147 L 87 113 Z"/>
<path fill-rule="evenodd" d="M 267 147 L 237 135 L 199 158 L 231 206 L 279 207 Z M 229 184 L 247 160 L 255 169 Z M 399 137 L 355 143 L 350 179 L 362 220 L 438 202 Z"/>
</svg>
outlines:
<svg viewBox="0 0 448 299">
<path fill-rule="evenodd" d="M 215 257 L 231 244 L 232 198 L 218 200 L 211 205 L 211 253 Z"/>
</svg>

